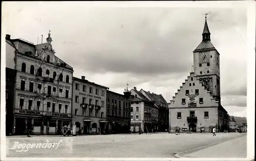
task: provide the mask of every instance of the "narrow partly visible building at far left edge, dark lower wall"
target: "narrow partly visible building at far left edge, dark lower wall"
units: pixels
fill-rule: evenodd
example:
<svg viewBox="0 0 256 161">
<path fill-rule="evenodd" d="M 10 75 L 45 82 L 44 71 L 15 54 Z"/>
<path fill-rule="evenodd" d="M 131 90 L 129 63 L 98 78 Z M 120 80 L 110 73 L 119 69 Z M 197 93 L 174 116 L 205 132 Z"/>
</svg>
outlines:
<svg viewBox="0 0 256 161">
<path fill-rule="evenodd" d="M 6 35 L 6 135 L 13 134 L 13 108 L 16 86 L 16 60 L 17 54 L 14 43 L 10 40 L 10 35 Z"/>
</svg>

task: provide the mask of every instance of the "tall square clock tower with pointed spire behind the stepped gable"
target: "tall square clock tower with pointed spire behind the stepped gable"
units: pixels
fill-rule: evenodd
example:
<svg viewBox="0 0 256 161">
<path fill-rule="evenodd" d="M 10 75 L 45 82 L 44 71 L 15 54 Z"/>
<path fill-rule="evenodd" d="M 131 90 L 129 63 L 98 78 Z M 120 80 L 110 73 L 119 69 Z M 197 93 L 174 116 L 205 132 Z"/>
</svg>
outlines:
<svg viewBox="0 0 256 161">
<path fill-rule="evenodd" d="M 202 42 L 194 50 L 194 72 L 210 94 L 220 100 L 220 54 L 210 42 L 210 31 L 205 16 Z"/>
</svg>

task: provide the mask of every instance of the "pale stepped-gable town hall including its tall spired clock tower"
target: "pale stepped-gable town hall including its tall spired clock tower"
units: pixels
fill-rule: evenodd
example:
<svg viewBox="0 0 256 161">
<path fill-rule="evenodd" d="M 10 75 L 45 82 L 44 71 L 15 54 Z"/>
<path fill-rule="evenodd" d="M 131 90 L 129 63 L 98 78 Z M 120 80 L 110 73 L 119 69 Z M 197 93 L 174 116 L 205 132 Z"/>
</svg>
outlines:
<svg viewBox="0 0 256 161">
<path fill-rule="evenodd" d="M 228 114 L 221 105 L 220 54 L 210 42 L 206 17 L 202 42 L 194 53 L 194 72 L 169 103 L 169 126 L 182 131 L 228 130 Z"/>
</svg>

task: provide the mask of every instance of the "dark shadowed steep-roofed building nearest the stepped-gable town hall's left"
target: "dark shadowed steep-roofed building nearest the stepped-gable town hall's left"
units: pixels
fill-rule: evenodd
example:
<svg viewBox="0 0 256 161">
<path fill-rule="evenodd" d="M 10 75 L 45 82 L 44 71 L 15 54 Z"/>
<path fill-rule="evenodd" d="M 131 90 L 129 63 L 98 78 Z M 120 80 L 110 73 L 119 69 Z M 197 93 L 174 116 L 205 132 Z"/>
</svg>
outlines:
<svg viewBox="0 0 256 161">
<path fill-rule="evenodd" d="M 168 103 L 165 101 L 162 95 L 157 95 L 151 93 L 150 91 L 145 91 L 140 89 L 140 92 L 151 101 L 156 101 L 154 107 L 152 109 L 152 125 L 156 131 L 164 132 L 165 129 L 168 130 L 168 122 L 169 122 L 169 109 Z"/>
</svg>

